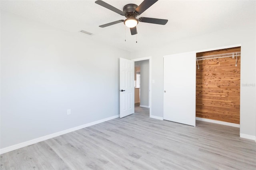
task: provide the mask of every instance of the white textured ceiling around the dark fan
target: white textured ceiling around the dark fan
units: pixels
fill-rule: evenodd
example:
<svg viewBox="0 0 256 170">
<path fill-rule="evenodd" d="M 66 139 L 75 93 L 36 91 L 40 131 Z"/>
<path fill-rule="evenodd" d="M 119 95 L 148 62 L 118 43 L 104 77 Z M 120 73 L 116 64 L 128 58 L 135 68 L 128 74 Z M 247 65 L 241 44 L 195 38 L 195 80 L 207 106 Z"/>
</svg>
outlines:
<svg viewBox="0 0 256 170">
<path fill-rule="evenodd" d="M 104 1 L 122 10 L 126 4 L 139 5 L 143 0 Z M 106 28 L 98 27 L 116 20 L 124 20 L 125 17 L 95 4 L 94 0 L 1 0 L 1 10 L 72 32 L 83 36 L 84 39 L 91 38 L 128 51 L 157 47 L 178 39 L 255 22 L 252 20 L 255 18 L 248 17 L 255 14 L 255 1 L 158 0 L 139 17 L 168 19 L 168 23 L 164 26 L 139 23 L 136 43 L 136 35 L 131 36 L 129 28 L 123 23 Z M 83 35 L 80 30 L 91 32 L 93 35 Z"/>
</svg>

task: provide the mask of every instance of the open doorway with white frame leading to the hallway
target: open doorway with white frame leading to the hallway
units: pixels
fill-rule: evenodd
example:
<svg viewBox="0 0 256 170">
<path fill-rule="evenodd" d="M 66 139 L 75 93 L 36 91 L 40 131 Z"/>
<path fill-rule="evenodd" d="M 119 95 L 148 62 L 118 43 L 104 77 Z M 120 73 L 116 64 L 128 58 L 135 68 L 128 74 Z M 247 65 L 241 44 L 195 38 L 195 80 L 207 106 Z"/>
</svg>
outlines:
<svg viewBox="0 0 256 170">
<path fill-rule="evenodd" d="M 151 117 L 151 57 L 134 61 L 134 108 L 149 112 Z"/>
</svg>

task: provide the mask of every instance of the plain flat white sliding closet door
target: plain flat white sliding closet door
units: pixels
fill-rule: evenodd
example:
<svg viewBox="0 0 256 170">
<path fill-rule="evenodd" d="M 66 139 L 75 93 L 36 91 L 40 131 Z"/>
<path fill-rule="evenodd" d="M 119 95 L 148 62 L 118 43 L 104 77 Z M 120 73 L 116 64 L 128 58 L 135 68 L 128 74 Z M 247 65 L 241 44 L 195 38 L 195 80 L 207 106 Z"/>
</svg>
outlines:
<svg viewBox="0 0 256 170">
<path fill-rule="evenodd" d="M 164 120 L 196 126 L 196 53 L 164 56 Z"/>
</svg>

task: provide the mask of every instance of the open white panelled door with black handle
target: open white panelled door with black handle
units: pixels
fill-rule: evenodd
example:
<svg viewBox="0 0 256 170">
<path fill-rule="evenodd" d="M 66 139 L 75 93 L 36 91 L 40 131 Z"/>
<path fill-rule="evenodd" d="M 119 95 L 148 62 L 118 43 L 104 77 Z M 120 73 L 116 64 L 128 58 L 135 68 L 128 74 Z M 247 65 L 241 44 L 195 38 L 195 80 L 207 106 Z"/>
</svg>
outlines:
<svg viewBox="0 0 256 170">
<path fill-rule="evenodd" d="M 134 113 L 134 61 L 120 58 L 120 118 Z"/>
</svg>

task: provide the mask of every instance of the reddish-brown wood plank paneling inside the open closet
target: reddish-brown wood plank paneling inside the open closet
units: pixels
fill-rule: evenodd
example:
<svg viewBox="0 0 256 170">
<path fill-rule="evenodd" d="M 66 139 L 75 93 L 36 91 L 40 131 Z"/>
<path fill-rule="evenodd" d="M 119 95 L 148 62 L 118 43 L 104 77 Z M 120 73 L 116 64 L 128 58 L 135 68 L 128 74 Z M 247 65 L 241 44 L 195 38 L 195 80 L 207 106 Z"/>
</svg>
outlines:
<svg viewBox="0 0 256 170">
<path fill-rule="evenodd" d="M 240 52 L 241 47 L 197 53 L 196 57 Z M 196 117 L 240 124 L 240 56 L 198 61 Z M 196 65 L 197 67 L 197 65 Z"/>
</svg>

